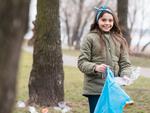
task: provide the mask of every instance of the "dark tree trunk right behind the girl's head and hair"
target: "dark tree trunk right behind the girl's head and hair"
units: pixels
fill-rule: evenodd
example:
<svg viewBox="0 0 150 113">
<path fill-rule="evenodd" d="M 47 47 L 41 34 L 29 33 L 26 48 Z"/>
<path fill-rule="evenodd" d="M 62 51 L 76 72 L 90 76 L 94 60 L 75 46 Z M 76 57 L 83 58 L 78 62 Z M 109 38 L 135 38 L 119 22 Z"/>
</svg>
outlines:
<svg viewBox="0 0 150 113">
<path fill-rule="evenodd" d="M 123 36 L 130 46 L 131 37 L 128 28 L 128 0 L 117 0 L 117 12 Z"/>
</svg>

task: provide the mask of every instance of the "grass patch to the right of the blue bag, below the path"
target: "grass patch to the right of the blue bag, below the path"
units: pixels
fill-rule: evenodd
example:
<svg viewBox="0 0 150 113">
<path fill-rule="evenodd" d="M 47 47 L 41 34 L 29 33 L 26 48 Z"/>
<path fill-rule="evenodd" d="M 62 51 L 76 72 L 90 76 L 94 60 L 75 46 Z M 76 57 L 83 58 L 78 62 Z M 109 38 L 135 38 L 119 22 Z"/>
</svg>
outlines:
<svg viewBox="0 0 150 113">
<path fill-rule="evenodd" d="M 140 77 L 133 85 L 126 87 L 127 93 L 135 101 L 133 106 L 125 109 L 125 113 L 149 113 L 150 82 L 149 78 Z"/>
</svg>

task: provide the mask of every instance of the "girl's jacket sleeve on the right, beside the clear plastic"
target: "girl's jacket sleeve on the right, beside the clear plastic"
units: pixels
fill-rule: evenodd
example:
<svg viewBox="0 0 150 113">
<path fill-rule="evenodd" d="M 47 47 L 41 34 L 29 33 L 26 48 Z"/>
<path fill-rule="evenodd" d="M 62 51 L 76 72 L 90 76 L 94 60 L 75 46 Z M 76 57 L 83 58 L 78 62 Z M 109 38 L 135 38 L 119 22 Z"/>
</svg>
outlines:
<svg viewBox="0 0 150 113">
<path fill-rule="evenodd" d="M 120 59 L 119 59 L 119 67 L 120 67 L 120 76 L 128 76 L 131 75 L 131 62 L 129 59 L 128 48 L 121 47 Z"/>
</svg>

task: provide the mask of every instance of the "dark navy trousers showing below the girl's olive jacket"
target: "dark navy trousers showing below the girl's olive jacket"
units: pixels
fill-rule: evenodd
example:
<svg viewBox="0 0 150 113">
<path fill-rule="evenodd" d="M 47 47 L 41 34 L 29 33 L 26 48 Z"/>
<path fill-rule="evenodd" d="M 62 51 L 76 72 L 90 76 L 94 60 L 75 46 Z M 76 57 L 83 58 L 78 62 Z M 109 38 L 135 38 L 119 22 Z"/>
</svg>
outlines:
<svg viewBox="0 0 150 113">
<path fill-rule="evenodd" d="M 89 101 L 90 113 L 94 113 L 94 109 L 95 109 L 97 101 L 99 99 L 99 95 L 88 95 L 87 97 L 88 97 L 88 101 Z"/>
</svg>

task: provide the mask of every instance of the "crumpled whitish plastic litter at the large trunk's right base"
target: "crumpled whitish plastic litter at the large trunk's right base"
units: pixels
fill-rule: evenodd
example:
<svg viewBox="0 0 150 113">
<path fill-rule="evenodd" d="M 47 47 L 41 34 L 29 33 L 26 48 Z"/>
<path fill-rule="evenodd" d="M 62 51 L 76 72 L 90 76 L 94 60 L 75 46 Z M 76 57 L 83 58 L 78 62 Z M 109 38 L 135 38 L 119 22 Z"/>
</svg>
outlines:
<svg viewBox="0 0 150 113">
<path fill-rule="evenodd" d="M 65 102 L 59 102 L 58 106 L 55 106 L 54 109 L 61 111 L 61 113 L 67 113 L 71 110 L 71 108 L 67 106 Z"/>
</svg>

